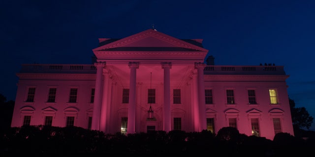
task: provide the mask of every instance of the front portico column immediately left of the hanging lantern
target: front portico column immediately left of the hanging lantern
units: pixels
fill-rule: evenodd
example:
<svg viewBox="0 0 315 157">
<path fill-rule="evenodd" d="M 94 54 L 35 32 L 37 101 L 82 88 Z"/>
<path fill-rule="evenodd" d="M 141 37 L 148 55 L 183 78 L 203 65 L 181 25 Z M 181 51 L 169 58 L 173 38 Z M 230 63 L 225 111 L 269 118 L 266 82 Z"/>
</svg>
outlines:
<svg viewBox="0 0 315 157">
<path fill-rule="evenodd" d="M 139 68 L 139 63 L 129 62 L 128 66 L 130 68 L 130 87 L 129 87 L 127 134 L 135 133 L 136 76 L 137 76 L 137 69 Z"/>
</svg>

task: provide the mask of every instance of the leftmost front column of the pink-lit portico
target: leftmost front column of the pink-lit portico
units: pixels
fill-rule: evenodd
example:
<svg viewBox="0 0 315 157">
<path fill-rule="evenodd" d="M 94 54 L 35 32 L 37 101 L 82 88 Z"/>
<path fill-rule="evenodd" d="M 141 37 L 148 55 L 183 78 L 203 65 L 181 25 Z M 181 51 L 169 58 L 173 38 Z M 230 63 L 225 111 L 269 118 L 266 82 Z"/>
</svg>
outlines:
<svg viewBox="0 0 315 157">
<path fill-rule="evenodd" d="M 95 81 L 95 96 L 93 105 L 93 117 L 92 117 L 92 130 L 99 130 L 99 117 L 100 117 L 100 106 L 101 106 L 101 91 L 102 91 L 102 77 L 103 68 L 106 68 L 105 62 L 94 63 L 96 67 L 96 81 Z"/>
</svg>

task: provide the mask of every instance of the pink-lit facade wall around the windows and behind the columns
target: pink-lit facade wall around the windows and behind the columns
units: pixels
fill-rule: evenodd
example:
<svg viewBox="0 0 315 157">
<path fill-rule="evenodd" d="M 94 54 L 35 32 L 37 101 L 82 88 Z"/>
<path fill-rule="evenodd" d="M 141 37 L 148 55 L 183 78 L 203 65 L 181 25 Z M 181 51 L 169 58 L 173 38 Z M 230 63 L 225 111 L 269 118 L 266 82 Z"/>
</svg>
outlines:
<svg viewBox="0 0 315 157">
<path fill-rule="evenodd" d="M 36 79 L 38 77 L 40 75 L 36 76 Z M 248 79 L 252 76 L 234 78 L 221 76 L 222 80 L 214 81 L 211 75 L 205 75 L 205 89 L 213 91 L 213 104 L 205 105 L 206 118 L 214 118 L 215 133 L 222 127 L 228 126 L 228 118 L 237 118 L 237 129 L 240 133 L 252 135 L 250 119 L 258 118 L 260 136 L 272 139 L 274 136 L 272 118 L 279 117 L 283 131 L 293 134 L 285 81 L 265 81 L 257 76 L 251 81 L 246 81 L 242 80 L 244 77 Z M 270 78 L 272 79 L 272 76 Z M 32 116 L 31 125 L 43 125 L 45 116 L 52 115 L 54 117 L 53 126 L 65 127 L 66 116 L 70 115 L 75 116 L 74 126 L 88 129 L 88 117 L 93 115 L 94 103 L 91 103 L 91 90 L 95 88 L 93 79 L 95 79 L 95 74 L 91 74 L 89 80 L 73 78 L 67 78 L 67 80 L 19 80 L 12 127 L 22 126 L 24 115 Z M 278 78 L 275 77 L 275 80 Z M 146 132 L 147 126 L 156 126 L 156 130 L 163 130 L 163 83 L 161 81 L 148 83 L 138 82 L 136 85 L 136 132 Z M 170 87 L 171 129 L 174 129 L 173 118 L 180 117 L 183 131 L 198 131 L 195 127 L 198 125 L 197 115 L 194 112 L 194 104 L 197 99 L 196 80 L 192 77 L 189 81 L 183 82 L 182 86 L 176 86 L 178 84 L 178 81 L 172 81 Z M 111 81 L 111 85 L 111 98 L 106 115 L 107 124 L 106 130 L 104 130 L 106 133 L 121 131 L 121 119 L 128 116 L 128 104 L 122 103 L 122 96 L 123 88 L 129 87 L 120 86 L 115 81 Z M 29 87 L 36 89 L 34 102 L 26 102 Z M 49 88 L 52 87 L 57 88 L 56 102 L 47 103 Z M 77 103 L 69 103 L 70 88 L 78 89 Z M 154 110 L 154 121 L 147 120 L 147 111 L 150 107 L 147 102 L 148 89 L 156 89 L 157 93 L 156 103 L 151 104 Z M 173 89 L 181 89 L 181 104 L 173 104 Z M 236 104 L 227 104 L 226 89 L 234 90 Z M 249 104 L 248 89 L 255 90 L 257 104 Z M 277 89 L 279 104 L 270 104 L 269 89 Z"/>
</svg>

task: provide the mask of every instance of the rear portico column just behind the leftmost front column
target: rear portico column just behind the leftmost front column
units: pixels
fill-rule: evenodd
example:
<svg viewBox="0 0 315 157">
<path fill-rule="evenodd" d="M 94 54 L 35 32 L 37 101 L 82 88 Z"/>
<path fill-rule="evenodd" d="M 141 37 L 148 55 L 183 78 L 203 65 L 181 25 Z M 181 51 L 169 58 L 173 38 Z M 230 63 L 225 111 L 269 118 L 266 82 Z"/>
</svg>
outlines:
<svg viewBox="0 0 315 157">
<path fill-rule="evenodd" d="M 102 96 L 102 103 L 101 103 L 101 107 L 100 107 L 100 122 L 99 122 L 99 130 L 106 132 L 106 118 L 107 118 L 107 109 L 109 108 L 109 103 L 110 103 L 110 93 L 111 91 L 109 89 L 111 84 L 110 84 L 110 79 L 109 79 L 109 75 L 110 73 L 104 69 L 103 71 L 103 75 L 104 75 L 104 82 L 103 82 L 103 96 Z"/>
</svg>

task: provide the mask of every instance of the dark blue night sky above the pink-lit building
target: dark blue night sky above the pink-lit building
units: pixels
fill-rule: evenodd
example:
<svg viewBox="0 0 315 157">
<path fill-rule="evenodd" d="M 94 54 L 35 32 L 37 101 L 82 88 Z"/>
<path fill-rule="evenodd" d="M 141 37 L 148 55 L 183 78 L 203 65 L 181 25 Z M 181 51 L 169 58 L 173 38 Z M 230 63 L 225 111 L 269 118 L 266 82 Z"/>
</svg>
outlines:
<svg viewBox="0 0 315 157">
<path fill-rule="evenodd" d="M 1 0 L 0 20 L 7 100 L 15 100 L 21 64 L 90 64 L 98 38 L 154 24 L 179 39 L 203 39 L 216 65 L 284 66 L 289 97 L 315 118 L 315 0 Z"/>
</svg>

